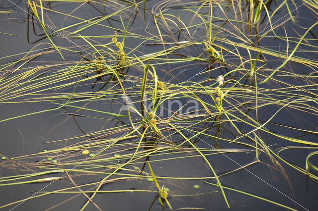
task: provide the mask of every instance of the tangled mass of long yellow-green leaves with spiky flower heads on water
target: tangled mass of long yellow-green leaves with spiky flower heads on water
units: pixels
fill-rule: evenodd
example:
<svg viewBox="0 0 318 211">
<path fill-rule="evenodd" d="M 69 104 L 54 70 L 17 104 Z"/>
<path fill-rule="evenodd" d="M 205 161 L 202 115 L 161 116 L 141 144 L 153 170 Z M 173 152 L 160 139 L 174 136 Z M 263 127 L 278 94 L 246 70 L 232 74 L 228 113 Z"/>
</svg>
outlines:
<svg viewBox="0 0 318 211">
<path fill-rule="evenodd" d="M 0 119 L 1 126 L 5 128 L 9 121 L 19 124 L 33 114 L 52 115 L 43 128 L 55 116 L 59 122 L 41 129 L 41 138 L 50 146 L 46 151 L 12 158 L 0 151 L 1 167 L 12 169 L 11 176 L 0 178 L 0 186 L 20 188 L 56 181 L 54 184 L 61 182 L 63 187 L 51 185 L 52 189 L 0 208 L 24 200 L 39 202 L 47 195 L 74 194 L 86 200 L 74 205 L 79 210 L 90 209 L 88 205 L 102 210 L 107 197 L 100 201 L 96 196 L 120 193 L 131 194 L 132 199 L 153 194 L 149 210 L 156 206 L 156 200 L 157 206 L 168 205 L 170 209 L 173 205 L 174 209 L 202 210 L 200 197 L 220 199 L 220 195 L 221 203 L 211 203 L 218 210 L 236 206 L 228 199 L 230 191 L 290 210 L 300 208 L 276 199 L 276 195 L 250 194 L 255 193 L 254 186 L 234 187 L 225 176 L 235 177 L 253 166 L 282 175 L 290 187 L 293 181 L 286 172 L 318 181 L 317 165 L 312 160 L 317 156 L 318 144 L 313 140 L 318 132 L 303 117 L 318 116 L 317 39 L 305 39 L 316 23 L 299 27 L 294 35 L 278 33 L 284 31 L 285 22 L 277 25 L 271 19 L 285 8 L 293 21 L 296 11 L 290 8 L 296 7 L 289 1 L 274 8 L 274 1 L 192 1 L 180 7 L 184 2 L 158 1 L 149 8 L 147 1 L 135 0 L 28 1 L 34 14 L 29 20 L 31 33 L 42 31 L 39 36 L 45 42 L 39 40 L 27 52 L 0 58 L 5 61 L 0 66 L 0 104 L 19 107 L 28 103 L 39 110 L 12 113 Z M 64 3 L 76 9 L 65 13 L 59 7 Z M 317 14 L 316 4 L 309 3 Z M 92 17 L 82 17 L 76 13 L 80 9 L 100 15 L 92 12 Z M 59 24 L 50 19 L 52 14 L 71 23 Z M 89 34 L 95 29 L 98 34 Z M 59 39 L 73 43 L 64 46 Z M 277 40 L 284 45 L 271 44 Z M 55 54 L 67 60 L 59 56 L 61 60 L 52 62 Z M 301 73 L 294 65 L 303 68 Z M 189 105 L 191 109 L 186 107 Z M 283 122 L 286 113 L 304 124 Z M 59 127 L 72 135 L 56 138 Z M 282 155 L 288 150 L 307 150 L 309 156 L 292 160 L 293 156 Z M 244 163 L 240 155 L 246 158 Z M 178 168 L 165 167 L 176 162 Z M 159 172 L 161 168 L 164 173 Z M 23 173 L 16 173 L 18 169 Z M 88 177 L 89 182 L 83 180 Z M 157 179 L 173 192 L 160 186 Z M 201 182 L 201 188 L 189 192 L 194 180 Z M 136 183 L 132 185 L 132 181 Z M 148 181 L 155 181 L 156 187 Z M 59 209 L 68 200 L 52 209 Z M 107 209 L 113 204 L 107 204 Z"/>
</svg>

